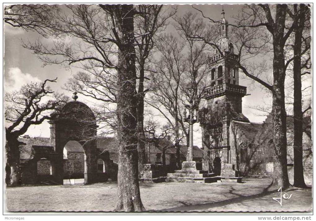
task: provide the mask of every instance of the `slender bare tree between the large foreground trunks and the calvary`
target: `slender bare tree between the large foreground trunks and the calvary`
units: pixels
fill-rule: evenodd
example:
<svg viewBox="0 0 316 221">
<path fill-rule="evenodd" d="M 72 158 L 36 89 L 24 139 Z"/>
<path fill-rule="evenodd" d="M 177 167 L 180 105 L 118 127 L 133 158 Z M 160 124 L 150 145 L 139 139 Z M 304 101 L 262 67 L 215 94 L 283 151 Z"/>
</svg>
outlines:
<svg viewBox="0 0 316 221">
<path fill-rule="evenodd" d="M 178 168 L 180 167 L 180 80 L 185 73 L 183 46 L 179 39 L 172 35 L 164 34 L 161 36 L 160 45 L 158 46 L 161 59 L 155 65 L 155 70 L 151 72 L 151 79 L 155 89 L 150 94 L 149 102 L 149 105 L 158 110 L 173 127 Z M 168 111 L 168 114 L 165 110 Z"/>
</svg>

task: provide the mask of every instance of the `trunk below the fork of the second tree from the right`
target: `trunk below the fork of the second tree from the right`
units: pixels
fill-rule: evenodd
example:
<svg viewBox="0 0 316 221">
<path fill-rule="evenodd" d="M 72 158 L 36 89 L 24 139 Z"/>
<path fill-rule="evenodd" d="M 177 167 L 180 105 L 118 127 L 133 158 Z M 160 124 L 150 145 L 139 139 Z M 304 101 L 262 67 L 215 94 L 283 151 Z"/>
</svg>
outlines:
<svg viewBox="0 0 316 221">
<path fill-rule="evenodd" d="M 282 186 L 283 189 L 289 187 L 289 177 L 287 170 L 287 138 L 286 138 L 286 111 L 284 104 L 284 43 L 282 36 L 274 36 L 273 48 L 273 143 L 274 143 L 274 170 L 273 183 Z"/>
</svg>

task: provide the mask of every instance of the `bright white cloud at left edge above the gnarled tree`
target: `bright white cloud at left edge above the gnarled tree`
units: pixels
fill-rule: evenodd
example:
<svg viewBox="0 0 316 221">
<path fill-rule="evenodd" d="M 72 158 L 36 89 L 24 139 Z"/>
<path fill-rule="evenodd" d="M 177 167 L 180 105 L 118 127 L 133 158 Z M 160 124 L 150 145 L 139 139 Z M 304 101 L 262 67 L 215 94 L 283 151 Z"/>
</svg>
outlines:
<svg viewBox="0 0 316 221">
<path fill-rule="evenodd" d="M 22 73 L 17 67 L 9 68 L 9 72 L 5 74 L 4 90 L 6 92 L 19 90 L 24 84 L 36 81 L 40 81 L 40 79 L 29 73 Z"/>
</svg>

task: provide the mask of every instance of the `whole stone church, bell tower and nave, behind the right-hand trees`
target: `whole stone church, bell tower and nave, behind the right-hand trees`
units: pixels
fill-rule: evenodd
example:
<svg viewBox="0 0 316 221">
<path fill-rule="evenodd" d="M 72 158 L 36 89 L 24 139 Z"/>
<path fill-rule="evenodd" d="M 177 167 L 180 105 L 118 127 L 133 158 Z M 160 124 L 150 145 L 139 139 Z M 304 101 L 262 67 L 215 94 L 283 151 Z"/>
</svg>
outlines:
<svg viewBox="0 0 316 221">
<path fill-rule="evenodd" d="M 263 123 L 252 123 L 242 113 L 246 87 L 239 85 L 238 55 L 230 42 L 222 11 L 219 49 L 209 59 L 210 86 L 199 106 L 202 128 L 203 170 L 218 176 L 272 176 L 273 141 L 270 114 Z M 307 114 L 308 115 L 308 114 Z M 293 180 L 293 117 L 287 117 L 288 171 Z M 303 165 L 307 184 L 312 182 L 311 120 L 304 116 Z"/>
</svg>

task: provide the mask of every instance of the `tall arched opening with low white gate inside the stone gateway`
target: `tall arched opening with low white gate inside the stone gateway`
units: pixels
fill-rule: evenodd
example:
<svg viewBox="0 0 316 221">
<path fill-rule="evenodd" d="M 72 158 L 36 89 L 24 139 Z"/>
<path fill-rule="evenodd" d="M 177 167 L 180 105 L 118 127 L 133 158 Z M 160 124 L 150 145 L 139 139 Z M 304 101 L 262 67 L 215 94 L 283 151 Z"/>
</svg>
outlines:
<svg viewBox="0 0 316 221">
<path fill-rule="evenodd" d="M 70 140 L 63 150 L 63 184 L 87 183 L 87 156 L 82 145 Z"/>
</svg>

